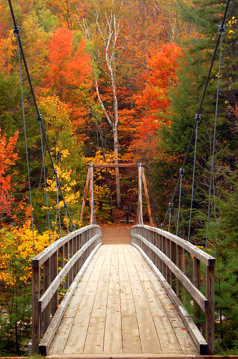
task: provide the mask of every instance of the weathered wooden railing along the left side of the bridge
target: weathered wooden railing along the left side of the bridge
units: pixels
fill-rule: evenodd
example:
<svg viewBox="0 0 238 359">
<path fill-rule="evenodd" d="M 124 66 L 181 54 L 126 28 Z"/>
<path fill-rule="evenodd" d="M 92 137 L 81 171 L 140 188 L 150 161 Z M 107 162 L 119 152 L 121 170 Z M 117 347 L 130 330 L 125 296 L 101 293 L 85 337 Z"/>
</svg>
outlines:
<svg viewBox="0 0 238 359">
<path fill-rule="evenodd" d="M 101 227 L 86 226 L 52 243 L 32 259 L 32 353 L 39 351 L 41 334 L 49 346 L 56 322 L 63 317 L 63 308 L 67 308 L 101 238 Z"/>
</svg>

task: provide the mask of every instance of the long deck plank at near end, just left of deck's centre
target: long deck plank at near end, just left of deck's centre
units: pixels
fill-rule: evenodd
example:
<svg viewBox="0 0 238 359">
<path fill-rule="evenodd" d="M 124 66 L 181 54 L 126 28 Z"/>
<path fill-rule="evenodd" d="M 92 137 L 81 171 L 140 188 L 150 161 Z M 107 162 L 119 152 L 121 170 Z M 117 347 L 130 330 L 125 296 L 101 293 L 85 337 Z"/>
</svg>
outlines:
<svg viewBox="0 0 238 359">
<path fill-rule="evenodd" d="M 120 295 L 108 296 L 104 334 L 104 353 L 123 353 Z"/>
</svg>

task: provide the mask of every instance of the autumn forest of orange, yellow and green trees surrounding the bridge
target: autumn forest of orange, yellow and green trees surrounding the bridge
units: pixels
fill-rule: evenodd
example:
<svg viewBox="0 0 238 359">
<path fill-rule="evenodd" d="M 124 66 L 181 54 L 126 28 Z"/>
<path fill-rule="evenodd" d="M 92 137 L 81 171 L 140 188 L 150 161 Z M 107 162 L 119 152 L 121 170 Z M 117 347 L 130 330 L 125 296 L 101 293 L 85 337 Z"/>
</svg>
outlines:
<svg viewBox="0 0 238 359">
<path fill-rule="evenodd" d="M 13 0 L 12 6 L 75 228 L 89 224 L 89 206 L 82 221 L 80 212 L 92 163 L 142 163 L 154 225 L 160 227 L 196 123 L 226 3 Z M 196 157 L 194 135 L 184 167 L 179 222 L 179 189 L 170 208 L 170 231 L 204 250 L 208 246 L 216 258 L 215 351 L 230 354 L 238 350 L 237 8 L 238 1 L 230 0 L 221 64 L 219 44 L 195 131 Z M 30 339 L 31 258 L 72 231 L 23 57 L 21 71 L 18 61 L 9 4 L 0 0 L 0 355 L 25 353 Z M 136 224 L 138 170 L 95 169 L 94 202 L 97 224 L 116 225 L 128 204 Z"/>
</svg>

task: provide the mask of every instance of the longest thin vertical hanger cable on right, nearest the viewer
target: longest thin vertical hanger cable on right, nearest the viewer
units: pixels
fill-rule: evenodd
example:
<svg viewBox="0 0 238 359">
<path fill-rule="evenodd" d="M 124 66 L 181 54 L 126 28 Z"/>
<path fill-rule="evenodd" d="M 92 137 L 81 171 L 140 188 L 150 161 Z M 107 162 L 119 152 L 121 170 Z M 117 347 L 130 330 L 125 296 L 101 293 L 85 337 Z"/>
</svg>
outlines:
<svg viewBox="0 0 238 359">
<path fill-rule="evenodd" d="M 205 250 L 207 250 L 208 245 L 208 224 L 209 224 L 209 217 L 210 217 L 210 207 L 211 207 L 211 188 L 213 183 L 213 167 L 214 167 L 214 154 L 215 154 L 215 137 L 216 137 L 216 123 L 218 118 L 218 99 L 219 99 L 219 87 L 220 87 L 220 68 L 221 68 L 221 62 L 222 62 L 222 47 L 223 47 L 223 35 L 225 33 L 225 26 L 220 25 L 219 27 L 219 35 L 221 37 L 220 39 L 220 61 L 219 61 L 219 73 L 218 73 L 218 91 L 217 91 L 217 97 L 216 97 L 216 103 L 215 103 L 215 124 L 214 124 L 214 136 L 213 136 L 213 154 L 211 157 L 211 180 L 210 180 L 210 189 L 209 189 L 209 202 L 208 202 L 208 219 L 206 224 L 206 247 Z"/>
</svg>

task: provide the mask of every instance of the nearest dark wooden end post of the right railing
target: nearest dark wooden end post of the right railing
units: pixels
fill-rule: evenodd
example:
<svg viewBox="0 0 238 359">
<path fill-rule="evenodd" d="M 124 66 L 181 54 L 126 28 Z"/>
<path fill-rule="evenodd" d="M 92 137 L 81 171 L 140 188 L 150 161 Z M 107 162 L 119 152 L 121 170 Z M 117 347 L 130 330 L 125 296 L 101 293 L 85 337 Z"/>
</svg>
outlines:
<svg viewBox="0 0 238 359">
<path fill-rule="evenodd" d="M 206 312 L 206 342 L 208 355 L 214 355 L 214 267 L 206 267 L 206 298 L 208 311 Z"/>
</svg>

